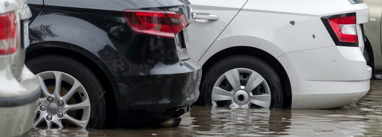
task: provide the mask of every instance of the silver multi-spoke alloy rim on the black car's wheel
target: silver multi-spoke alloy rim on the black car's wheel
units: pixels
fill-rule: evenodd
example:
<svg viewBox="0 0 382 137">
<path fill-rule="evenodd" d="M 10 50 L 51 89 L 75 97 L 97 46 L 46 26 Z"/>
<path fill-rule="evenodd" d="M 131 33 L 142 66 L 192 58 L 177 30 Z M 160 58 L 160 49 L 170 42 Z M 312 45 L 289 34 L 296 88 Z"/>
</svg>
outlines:
<svg viewBox="0 0 382 137">
<path fill-rule="evenodd" d="M 59 71 L 46 71 L 36 76 L 40 80 L 40 87 L 44 97 L 39 99 L 38 117 L 36 117 L 33 126 L 36 127 L 42 122 L 46 122 L 47 127 L 52 127 L 53 124 L 63 127 L 63 121 L 66 121 L 77 127 L 86 127 L 90 118 L 90 100 L 83 85 L 69 74 Z M 49 90 L 53 85 L 45 84 L 44 80 L 47 79 L 55 81 L 54 91 L 53 89 Z M 69 86 L 70 89 L 62 87 L 63 81 L 67 85 L 66 87 Z M 76 95 L 76 98 L 74 95 Z M 72 103 L 73 101 L 75 103 Z M 82 116 L 75 116 L 76 118 L 74 118 L 69 114 L 79 110 L 82 110 Z"/>
</svg>

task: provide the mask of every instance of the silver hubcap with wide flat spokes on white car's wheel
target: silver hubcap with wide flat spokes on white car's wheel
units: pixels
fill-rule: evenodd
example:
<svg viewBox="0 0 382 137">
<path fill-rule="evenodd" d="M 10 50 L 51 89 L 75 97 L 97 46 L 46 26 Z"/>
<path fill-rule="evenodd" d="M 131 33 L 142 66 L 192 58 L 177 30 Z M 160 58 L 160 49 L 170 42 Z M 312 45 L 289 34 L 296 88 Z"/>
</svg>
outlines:
<svg viewBox="0 0 382 137">
<path fill-rule="evenodd" d="M 228 91 L 229 90 L 229 91 Z M 228 101 L 230 106 L 250 106 L 252 104 L 269 108 L 270 89 L 259 73 L 246 68 L 227 71 L 218 78 L 212 89 L 212 105 Z"/>
</svg>

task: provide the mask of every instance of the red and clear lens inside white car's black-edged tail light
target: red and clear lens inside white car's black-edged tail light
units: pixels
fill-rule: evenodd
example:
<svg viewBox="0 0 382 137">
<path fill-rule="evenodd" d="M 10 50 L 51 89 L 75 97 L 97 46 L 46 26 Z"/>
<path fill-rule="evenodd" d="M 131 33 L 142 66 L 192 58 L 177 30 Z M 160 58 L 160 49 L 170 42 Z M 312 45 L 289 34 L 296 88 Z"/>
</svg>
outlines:
<svg viewBox="0 0 382 137">
<path fill-rule="evenodd" d="M 328 19 L 330 26 L 342 42 L 358 42 L 356 16 Z"/>
</svg>

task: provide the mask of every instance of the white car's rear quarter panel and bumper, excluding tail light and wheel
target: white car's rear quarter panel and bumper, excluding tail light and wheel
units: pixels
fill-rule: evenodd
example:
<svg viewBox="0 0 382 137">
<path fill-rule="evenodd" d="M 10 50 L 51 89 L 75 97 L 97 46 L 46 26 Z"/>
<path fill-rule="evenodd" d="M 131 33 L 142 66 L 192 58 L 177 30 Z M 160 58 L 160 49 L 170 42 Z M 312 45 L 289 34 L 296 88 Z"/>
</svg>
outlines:
<svg viewBox="0 0 382 137">
<path fill-rule="evenodd" d="M 194 0 L 190 2 L 194 4 Z M 207 11 L 194 8 L 194 12 Z M 219 15 L 215 10 L 210 12 Z M 354 12 L 358 47 L 335 46 L 321 17 Z M 224 18 L 225 14 L 219 16 Z M 196 32 L 205 30 L 200 26 L 214 29 L 215 26 L 210 25 L 214 21 L 195 21 L 189 25 L 188 30 L 193 33 L 189 33 L 188 51 L 192 58 L 204 64 L 211 56 L 230 47 L 258 48 L 274 56 L 288 74 L 291 108 L 335 108 L 358 100 L 369 90 L 371 68 L 366 66 L 362 55 L 364 44 L 360 29 L 360 24 L 367 21 L 366 4 L 351 4 L 348 0 L 248 0 L 219 37 L 208 37 L 216 39 L 210 46 L 194 41 L 198 40 L 196 35 L 200 35 Z"/>
</svg>

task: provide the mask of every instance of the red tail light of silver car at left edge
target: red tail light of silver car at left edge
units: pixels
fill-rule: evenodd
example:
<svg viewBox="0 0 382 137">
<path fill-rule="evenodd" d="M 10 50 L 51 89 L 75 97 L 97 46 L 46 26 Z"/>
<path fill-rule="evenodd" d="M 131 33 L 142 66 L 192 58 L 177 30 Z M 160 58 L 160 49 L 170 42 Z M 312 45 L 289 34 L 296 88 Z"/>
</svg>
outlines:
<svg viewBox="0 0 382 137">
<path fill-rule="evenodd" d="M 17 27 L 14 12 L 0 14 L 0 55 L 11 54 L 17 50 Z"/>
</svg>

